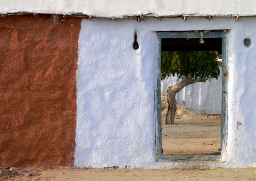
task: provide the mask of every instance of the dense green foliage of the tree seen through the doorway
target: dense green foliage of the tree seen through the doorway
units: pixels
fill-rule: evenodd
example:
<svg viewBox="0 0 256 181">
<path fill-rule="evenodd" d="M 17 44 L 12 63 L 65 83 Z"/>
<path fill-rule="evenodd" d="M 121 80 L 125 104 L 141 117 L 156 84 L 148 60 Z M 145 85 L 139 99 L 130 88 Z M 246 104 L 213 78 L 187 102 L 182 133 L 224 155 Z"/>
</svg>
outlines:
<svg viewBox="0 0 256 181">
<path fill-rule="evenodd" d="M 218 78 L 220 68 L 214 51 L 162 51 L 161 78 L 177 76 L 184 78 L 191 73 L 193 79 Z"/>
</svg>

